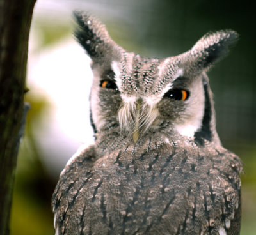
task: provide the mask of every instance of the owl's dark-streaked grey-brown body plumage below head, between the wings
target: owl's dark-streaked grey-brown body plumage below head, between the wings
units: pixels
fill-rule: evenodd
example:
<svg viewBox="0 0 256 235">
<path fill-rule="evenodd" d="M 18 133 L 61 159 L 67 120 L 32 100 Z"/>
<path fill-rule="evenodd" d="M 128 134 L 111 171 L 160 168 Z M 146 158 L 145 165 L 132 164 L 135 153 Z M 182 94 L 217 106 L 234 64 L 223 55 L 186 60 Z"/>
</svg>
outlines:
<svg viewBox="0 0 256 235">
<path fill-rule="evenodd" d="M 221 201 L 226 193 L 231 219 L 238 207 L 234 188 L 240 183 L 237 173 L 228 181 L 220 163 L 184 149 L 132 156 L 119 151 L 100 158 L 91 169 L 84 162 L 76 174 L 68 172 L 74 180 L 65 186 L 70 192 L 62 200 L 68 201 L 67 226 L 83 234 L 207 234 L 210 225 L 218 231 Z"/>
</svg>

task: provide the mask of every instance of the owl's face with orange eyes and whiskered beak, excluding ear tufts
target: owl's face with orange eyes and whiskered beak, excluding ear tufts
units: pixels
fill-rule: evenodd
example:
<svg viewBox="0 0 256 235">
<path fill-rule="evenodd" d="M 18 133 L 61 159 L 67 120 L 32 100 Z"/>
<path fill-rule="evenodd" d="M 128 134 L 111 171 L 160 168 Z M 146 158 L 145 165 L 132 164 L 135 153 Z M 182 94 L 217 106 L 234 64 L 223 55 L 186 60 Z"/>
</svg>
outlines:
<svg viewBox="0 0 256 235">
<path fill-rule="evenodd" d="M 100 130 L 109 123 L 136 142 L 168 128 L 191 137 L 204 116 L 202 75 L 189 75 L 175 58 L 148 59 L 126 53 L 110 68 L 93 68 L 92 119 Z"/>
</svg>

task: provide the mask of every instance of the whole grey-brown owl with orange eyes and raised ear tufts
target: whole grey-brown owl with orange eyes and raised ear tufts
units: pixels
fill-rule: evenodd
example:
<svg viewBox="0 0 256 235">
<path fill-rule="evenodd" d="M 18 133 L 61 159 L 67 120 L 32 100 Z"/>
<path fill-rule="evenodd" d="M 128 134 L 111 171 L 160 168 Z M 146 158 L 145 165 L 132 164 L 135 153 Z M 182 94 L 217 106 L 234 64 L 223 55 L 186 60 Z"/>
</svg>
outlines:
<svg viewBox="0 0 256 235">
<path fill-rule="evenodd" d="M 92 59 L 95 143 L 60 174 L 56 235 L 239 234 L 243 165 L 221 146 L 205 73 L 237 33 L 208 33 L 157 59 L 127 52 L 92 15 L 74 17 Z"/>
</svg>

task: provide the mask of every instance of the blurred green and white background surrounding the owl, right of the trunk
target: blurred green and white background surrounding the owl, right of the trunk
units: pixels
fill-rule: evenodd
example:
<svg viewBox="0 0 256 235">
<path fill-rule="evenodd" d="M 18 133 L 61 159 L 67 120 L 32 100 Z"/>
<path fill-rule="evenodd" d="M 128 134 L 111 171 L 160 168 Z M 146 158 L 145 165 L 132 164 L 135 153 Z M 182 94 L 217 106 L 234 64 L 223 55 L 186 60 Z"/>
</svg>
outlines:
<svg viewBox="0 0 256 235">
<path fill-rule="evenodd" d="M 80 70 L 88 70 L 89 63 L 87 61 L 83 66 L 79 62 L 79 56 L 67 53 L 76 51 L 70 47 L 77 45 L 72 37 L 71 15 L 75 9 L 91 11 L 97 15 L 118 44 L 142 56 L 168 57 L 180 54 L 190 49 L 208 31 L 234 29 L 240 34 L 240 40 L 230 54 L 216 64 L 208 75 L 214 92 L 220 139 L 225 148 L 239 155 L 244 162 L 245 173 L 241 176 L 241 234 L 256 234 L 255 3 L 236 0 L 37 1 L 29 47 L 27 86 L 30 92 L 26 96 L 26 100 L 31 103 L 31 110 L 17 163 L 11 234 L 54 234 L 51 195 L 58 175 L 79 144 L 92 141 L 89 119 L 79 119 L 80 124 L 77 121 L 80 114 L 76 114 L 77 109 L 86 110 L 83 115 L 87 115 L 88 90 L 84 91 L 85 96 L 77 98 L 75 95 L 76 74 L 80 74 Z M 61 54 L 65 64 L 61 59 L 53 59 L 49 63 L 51 68 L 41 63 L 42 57 L 45 61 L 50 61 L 52 54 L 64 47 L 71 48 Z M 83 49 L 80 50 L 82 56 L 86 57 Z M 33 73 L 33 68 L 37 68 L 40 63 L 41 67 L 37 70 L 39 72 Z M 81 64 L 79 68 L 76 67 L 77 64 Z M 67 74 L 65 69 L 69 65 Z M 58 71 L 53 71 L 54 68 Z M 37 79 L 39 75 L 36 74 L 42 75 L 43 72 L 47 72 L 45 79 L 44 76 L 41 80 Z M 67 77 L 64 78 L 61 72 Z M 50 77 L 51 74 L 53 77 Z M 84 80 L 88 79 L 87 73 L 84 74 Z M 53 86 L 55 79 L 59 80 Z M 42 85 L 45 80 L 49 83 Z M 64 87 L 63 84 L 70 87 Z M 90 79 L 84 84 L 83 86 L 88 87 Z M 61 100 L 63 96 L 55 100 L 52 98 L 63 90 L 70 101 L 68 104 L 67 100 Z M 81 94 L 84 95 L 83 89 Z M 75 98 L 74 101 L 72 98 Z M 81 105 L 76 106 L 76 99 Z M 58 105 L 63 103 L 67 113 L 72 115 L 68 117 L 68 124 L 66 122 L 56 128 L 56 123 L 60 124 L 66 116 L 54 116 Z M 79 125 L 83 128 L 79 128 Z M 68 130 L 76 129 L 81 138 L 77 140 L 74 136 L 68 137 L 70 132 L 65 127 Z M 84 132 L 90 132 L 89 137 L 83 135 Z"/>
</svg>

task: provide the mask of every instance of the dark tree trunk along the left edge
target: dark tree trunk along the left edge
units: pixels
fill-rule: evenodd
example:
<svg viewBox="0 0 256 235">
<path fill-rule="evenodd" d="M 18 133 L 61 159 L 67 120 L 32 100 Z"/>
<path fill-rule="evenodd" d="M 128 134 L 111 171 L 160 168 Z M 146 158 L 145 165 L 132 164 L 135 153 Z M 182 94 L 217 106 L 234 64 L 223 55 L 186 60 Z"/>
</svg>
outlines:
<svg viewBox="0 0 256 235">
<path fill-rule="evenodd" d="M 36 0 L 0 0 L 0 234 L 9 234 L 24 116 L 28 37 Z"/>
</svg>

